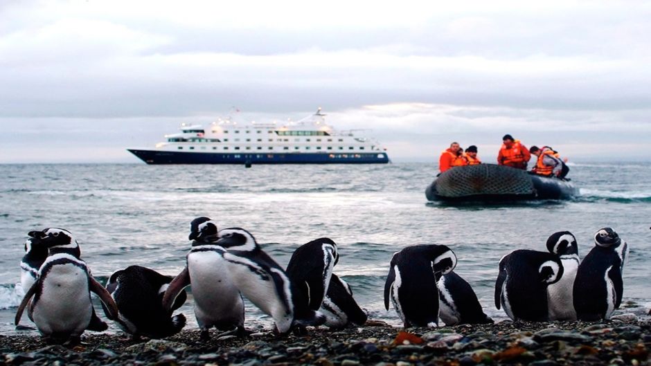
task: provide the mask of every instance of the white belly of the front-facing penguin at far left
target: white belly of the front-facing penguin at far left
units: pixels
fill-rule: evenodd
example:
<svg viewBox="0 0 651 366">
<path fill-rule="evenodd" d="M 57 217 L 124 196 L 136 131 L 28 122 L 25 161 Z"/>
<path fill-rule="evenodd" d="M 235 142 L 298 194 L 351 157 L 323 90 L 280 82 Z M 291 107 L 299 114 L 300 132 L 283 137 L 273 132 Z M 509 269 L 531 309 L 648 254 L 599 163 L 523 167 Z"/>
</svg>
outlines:
<svg viewBox="0 0 651 366">
<path fill-rule="evenodd" d="M 75 264 L 57 264 L 44 273 L 33 318 L 42 333 L 81 334 L 91 320 L 88 274 Z"/>
</svg>

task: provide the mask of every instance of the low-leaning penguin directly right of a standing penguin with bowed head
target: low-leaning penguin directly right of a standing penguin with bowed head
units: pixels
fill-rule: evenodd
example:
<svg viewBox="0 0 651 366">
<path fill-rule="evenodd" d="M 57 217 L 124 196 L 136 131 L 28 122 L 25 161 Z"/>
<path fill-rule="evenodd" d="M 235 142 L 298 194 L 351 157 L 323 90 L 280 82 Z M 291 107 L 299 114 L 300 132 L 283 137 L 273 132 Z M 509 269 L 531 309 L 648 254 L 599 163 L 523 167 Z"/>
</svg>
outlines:
<svg viewBox="0 0 651 366">
<path fill-rule="evenodd" d="M 438 317 L 447 326 L 458 324 L 490 324 L 493 322 L 483 312 L 476 293 L 469 283 L 455 271 L 442 275 L 437 273 L 439 296 Z"/>
</svg>

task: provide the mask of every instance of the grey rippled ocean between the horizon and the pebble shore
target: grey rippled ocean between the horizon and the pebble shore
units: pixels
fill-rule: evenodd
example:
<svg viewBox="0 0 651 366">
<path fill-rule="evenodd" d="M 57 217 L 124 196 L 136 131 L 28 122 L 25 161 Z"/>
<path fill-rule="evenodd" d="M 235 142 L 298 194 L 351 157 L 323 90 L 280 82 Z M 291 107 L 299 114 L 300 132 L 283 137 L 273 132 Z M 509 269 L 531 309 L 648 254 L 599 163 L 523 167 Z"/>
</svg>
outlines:
<svg viewBox="0 0 651 366">
<path fill-rule="evenodd" d="M 132 264 L 177 275 L 190 248 L 189 224 L 211 217 L 221 228 L 249 230 L 286 266 L 295 248 L 319 237 L 338 244 L 335 273 L 352 287 L 370 318 L 398 325 L 384 310 L 391 255 L 414 244 L 445 244 L 456 273 L 472 285 L 484 311 L 495 309 L 499 259 L 512 250 L 545 250 L 553 232 L 576 235 L 579 255 L 594 233 L 611 226 L 627 241 L 625 312 L 651 306 L 651 163 L 573 163 L 580 187 L 573 201 L 513 205 L 428 203 L 435 164 L 388 165 L 0 165 L 0 333 L 15 333 L 21 298 L 19 261 L 30 230 L 70 230 L 93 275 L 104 279 Z M 181 308 L 196 327 L 192 301 Z M 270 318 L 247 303 L 249 328 L 271 329 Z M 99 311 L 101 315 L 102 312 Z M 21 324 L 30 324 L 24 316 Z M 116 327 L 112 326 L 112 331 Z M 27 333 L 36 331 L 27 331 Z M 22 332 L 21 332 L 22 333 Z"/>
</svg>

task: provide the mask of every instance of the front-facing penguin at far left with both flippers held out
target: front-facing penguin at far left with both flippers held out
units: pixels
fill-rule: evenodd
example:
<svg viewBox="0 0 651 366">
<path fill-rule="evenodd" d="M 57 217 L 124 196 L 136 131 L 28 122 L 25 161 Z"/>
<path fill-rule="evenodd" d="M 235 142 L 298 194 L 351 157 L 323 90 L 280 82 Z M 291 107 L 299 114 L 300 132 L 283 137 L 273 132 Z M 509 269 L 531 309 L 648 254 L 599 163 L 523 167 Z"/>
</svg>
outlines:
<svg viewBox="0 0 651 366">
<path fill-rule="evenodd" d="M 16 325 L 29 304 L 29 318 L 46 340 L 79 342 L 84 330 L 92 327 L 94 309 L 90 291 L 107 306 L 109 319 L 117 317 L 114 300 L 80 259 L 77 241 L 68 230 L 46 228 L 28 235 L 35 239 L 31 243 L 33 246 L 48 248 L 48 257 L 39 268 L 36 282 L 18 306 Z"/>
</svg>

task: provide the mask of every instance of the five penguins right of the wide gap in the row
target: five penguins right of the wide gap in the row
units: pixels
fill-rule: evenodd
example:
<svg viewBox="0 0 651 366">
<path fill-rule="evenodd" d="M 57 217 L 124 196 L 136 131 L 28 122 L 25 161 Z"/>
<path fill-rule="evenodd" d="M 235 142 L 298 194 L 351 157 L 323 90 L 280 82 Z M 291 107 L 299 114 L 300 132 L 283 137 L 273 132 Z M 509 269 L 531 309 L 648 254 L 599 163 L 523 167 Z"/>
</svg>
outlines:
<svg viewBox="0 0 651 366">
<path fill-rule="evenodd" d="M 514 321 L 607 320 L 622 301 L 622 273 L 629 248 L 612 228 L 594 235 L 595 246 L 580 262 L 576 237 L 555 232 L 547 252 L 515 250 L 499 261 L 495 306 Z M 477 296 L 454 273 L 456 255 L 447 246 L 409 246 L 394 253 L 384 285 L 404 327 L 493 322 Z"/>
</svg>

